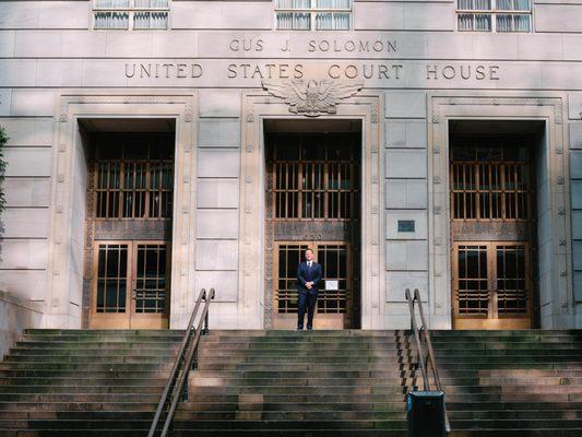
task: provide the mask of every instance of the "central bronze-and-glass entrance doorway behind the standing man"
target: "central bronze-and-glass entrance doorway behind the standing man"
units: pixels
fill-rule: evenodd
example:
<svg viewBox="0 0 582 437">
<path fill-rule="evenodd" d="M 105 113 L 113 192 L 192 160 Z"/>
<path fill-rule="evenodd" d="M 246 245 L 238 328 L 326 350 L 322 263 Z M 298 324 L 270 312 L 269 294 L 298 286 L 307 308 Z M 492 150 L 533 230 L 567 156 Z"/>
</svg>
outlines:
<svg viewBox="0 0 582 437">
<path fill-rule="evenodd" d="M 318 122 L 266 133 L 266 287 L 275 329 L 297 326 L 297 265 L 307 248 L 323 268 L 314 328 L 359 327 L 359 122 L 332 132 Z"/>
</svg>

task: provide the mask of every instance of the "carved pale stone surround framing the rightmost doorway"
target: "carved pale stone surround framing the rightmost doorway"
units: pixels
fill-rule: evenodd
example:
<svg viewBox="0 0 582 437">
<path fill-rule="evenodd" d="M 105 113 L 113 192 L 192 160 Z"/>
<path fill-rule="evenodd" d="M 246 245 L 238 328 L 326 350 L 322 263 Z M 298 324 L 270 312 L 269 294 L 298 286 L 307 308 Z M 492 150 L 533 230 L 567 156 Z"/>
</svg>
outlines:
<svg viewBox="0 0 582 437">
<path fill-rule="evenodd" d="M 554 282 L 559 286 L 551 290 L 542 290 L 542 295 L 551 296 L 548 308 L 550 314 L 542 320 L 543 328 L 561 328 L 567 326 L 571 314 L 568 312 L 572 300 L 571 284 L 567 281 L 560 281 L 560 271 L 569 272 L 569 261 L 563 248 L 560 245 L 563 239 L 556 238 L 556 235 L 567 235 L 569 232 L 569 205 L 560 206 L 557 193 L 563 191 L 563 180 L 567 179 L 568 173 L 568 150 L 562 146 L 565 143 L 563 127 L 563 101 L 565 95 L 559 93 L 503 93 L 499 92 L 473 92 L 467 96 L 466 92 L 461 91 L 442 91 L 429 94 L 428 98 L 428 154 L 431 156 L 428 162 L 428 180 L 429 180 L 429 210 L 437 208 L 439 204 L 448 203 L 449 199 L 449 151 L 447 144 L 449 120 L 488 120 L 488 119 L 527 119 L 539 120 L 546 126 L 546 140 L 541 145 L 547 147 L 548 158 L 544 165 L 547 165 L 546 173 L 549 175 L 547 184 L 550 199 L 548 206 L 551 209 L 551 229 L 555 229 L 549 244 L 554 246 L 554 257 L 551 262 L 551 276 Z M 534 96 L 532 96 L 534 94 Z M 566 198 L 568 199 L 568 198 Z M 442 203 L 442 202 L 446 203 Z M 563 210 L 563 215 L 560 213 Z M 441 214 L 433 214 L 429 217 L 429 251 L 431 259 L 429 263 L 437 265 L 439 257 L 447 257 L 450 262 L 451 244 L 450 244 L 450 211 L 448 208 L 441 209 Z M 568 269 L 562 269 L 567 265 Z M 450 271 L 442 271 L 437 274 L 436 270 L 429 273 L 429 291 L 433 295 L 433 304 L 430 307 L 430 324 L 433 328 L 446 328 L 451 320 L 451 277 Z M 430 299 L 429 299 L 430 300 Z M 442 303 L 442 306 L 437 305 Z"/>
</svg>

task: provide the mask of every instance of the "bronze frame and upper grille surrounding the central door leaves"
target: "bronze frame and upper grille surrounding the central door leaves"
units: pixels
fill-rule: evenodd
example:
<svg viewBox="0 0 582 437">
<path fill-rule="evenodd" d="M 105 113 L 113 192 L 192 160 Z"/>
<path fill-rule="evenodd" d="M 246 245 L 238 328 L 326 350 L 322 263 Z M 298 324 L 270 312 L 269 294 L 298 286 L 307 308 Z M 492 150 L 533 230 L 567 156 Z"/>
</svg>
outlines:
<svg viewBox="0 0 582 437">
<path fill-rule="evenodd" d="M 349 309 L 347 317 L 319 314 L 316 328 L 358 327 L 355 268 L 360 263 L 354 257 L 359 256 L 360 245 L 361 133 L 275 133 L 273 139 L 265 147 L 265 327 L 294 329 L 297 323 L 296 314 L 278 314 L 280 246 L 310 245 L 317 257 L 316 248 L 323 244 L 348 248 Z M 289 147 L 296 155 L 281 155 L 276 147 Z"/>
</svg>

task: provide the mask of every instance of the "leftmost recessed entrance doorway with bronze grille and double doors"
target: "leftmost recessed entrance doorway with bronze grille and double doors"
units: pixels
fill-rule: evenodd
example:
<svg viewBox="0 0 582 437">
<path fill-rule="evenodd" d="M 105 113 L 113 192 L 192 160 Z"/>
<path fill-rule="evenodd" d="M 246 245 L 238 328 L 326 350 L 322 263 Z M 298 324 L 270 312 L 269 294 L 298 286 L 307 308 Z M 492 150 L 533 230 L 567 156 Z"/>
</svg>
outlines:
<svg viewBox="0 0 582 437">
<path fill-rule="evenodd" d="M 84 286 L 90 328 L 169 326 L 174 125 L 149 121 L 83 125 L 88 144 Z M 121 131 L 91 131 L 99 127 Z"/>
</svg>

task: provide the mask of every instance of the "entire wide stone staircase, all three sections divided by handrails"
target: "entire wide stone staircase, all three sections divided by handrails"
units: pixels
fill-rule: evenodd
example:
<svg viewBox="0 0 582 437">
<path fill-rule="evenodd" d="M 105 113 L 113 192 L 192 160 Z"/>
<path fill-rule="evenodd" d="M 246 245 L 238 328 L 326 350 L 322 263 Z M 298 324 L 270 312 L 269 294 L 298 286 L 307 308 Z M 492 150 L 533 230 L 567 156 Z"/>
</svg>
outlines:
<svg viewBox="0 0 582 437">
<path fill-rule="evenodd" d="M 180 340 L 27 331 L 0 365 L 0 436 L 145 436 Z M 452 437 L 582 436 L 582 331 L 432 342 Z M 414 356 L 404 331 L 213 330 L 171 435 L 406 436 Z"/>
</svg>

